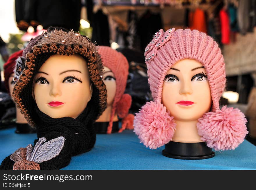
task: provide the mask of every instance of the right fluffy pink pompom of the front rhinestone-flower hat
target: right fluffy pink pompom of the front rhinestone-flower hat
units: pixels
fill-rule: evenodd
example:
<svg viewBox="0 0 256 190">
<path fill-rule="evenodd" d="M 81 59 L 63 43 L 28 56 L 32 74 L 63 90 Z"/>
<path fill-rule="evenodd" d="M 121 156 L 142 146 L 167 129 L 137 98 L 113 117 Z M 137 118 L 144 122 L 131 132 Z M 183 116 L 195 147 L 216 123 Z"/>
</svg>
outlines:
<svg viewBox="0 0 256 190">
<path fill-rule="evenodd" d="M 198 134 L 210 148 L 234 150 L 248 134 L 246 122 L 238 108 L 223 106 L 221 110 L 208 112 L 198 120 Z"/>
</svg>

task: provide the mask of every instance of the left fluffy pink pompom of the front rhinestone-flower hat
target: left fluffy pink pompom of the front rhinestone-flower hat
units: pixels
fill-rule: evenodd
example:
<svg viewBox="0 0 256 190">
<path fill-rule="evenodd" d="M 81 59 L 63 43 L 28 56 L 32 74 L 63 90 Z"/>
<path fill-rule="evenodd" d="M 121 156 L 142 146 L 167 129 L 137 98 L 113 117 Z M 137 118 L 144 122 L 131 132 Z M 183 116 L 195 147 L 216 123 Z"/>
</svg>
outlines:
<svg viewBox="0 0 256 190">
<path fill-rule="evenodd" d="M 168 143 L 173 138 L 176 123 L 159 102 L 147 102 L 134 117 L 134 132 L 151 149 Z"/>
</svg>

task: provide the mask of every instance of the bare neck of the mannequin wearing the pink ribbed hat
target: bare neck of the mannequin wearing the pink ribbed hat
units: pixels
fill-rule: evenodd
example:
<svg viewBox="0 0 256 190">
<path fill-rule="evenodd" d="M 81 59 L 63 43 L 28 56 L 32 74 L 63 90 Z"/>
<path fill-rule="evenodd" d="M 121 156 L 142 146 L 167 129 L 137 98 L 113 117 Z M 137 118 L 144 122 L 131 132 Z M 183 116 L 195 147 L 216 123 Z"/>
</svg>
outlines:
<svg viewBox="0 0 256 190">
<path fill-rule="evenodd" d="M 176 130 L 173 135 L 172 141 L 175 142 L 203 142 L 198 135 L 197 124 L 198 120 L 195 121 L 179 121 L 176 120 Z"/>
</svg>

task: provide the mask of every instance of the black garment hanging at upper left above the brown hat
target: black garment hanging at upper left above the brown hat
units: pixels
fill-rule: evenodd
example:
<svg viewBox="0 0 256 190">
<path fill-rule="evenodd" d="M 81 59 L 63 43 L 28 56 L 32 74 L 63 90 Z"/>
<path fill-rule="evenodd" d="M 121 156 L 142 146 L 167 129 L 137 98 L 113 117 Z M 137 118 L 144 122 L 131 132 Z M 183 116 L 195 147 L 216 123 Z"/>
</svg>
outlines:
<svg viewBox="0 0 256 190">
<path fill-rule="evenodd" d="M 78 31 L 81 0 L 15 0 L 15 13 L 17 23 L 36 21 L 44 29 L 56 26 Z"/>
</svg>

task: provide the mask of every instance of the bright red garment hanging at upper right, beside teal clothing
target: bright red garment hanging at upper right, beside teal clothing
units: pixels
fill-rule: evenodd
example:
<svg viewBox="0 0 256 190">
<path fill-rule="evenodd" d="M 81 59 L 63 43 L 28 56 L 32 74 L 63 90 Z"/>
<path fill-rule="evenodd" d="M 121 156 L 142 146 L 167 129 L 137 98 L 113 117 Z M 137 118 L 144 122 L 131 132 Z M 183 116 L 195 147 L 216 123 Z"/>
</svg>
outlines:
<svg viewBox="0 0 256 190">
<path fill-rule="evenodd" d="M 230 43 L 230 25 L 229 16 L 225 10 L 220 10 L 220 21 L 221 21 L 221 43 Z"/>
</svg>

